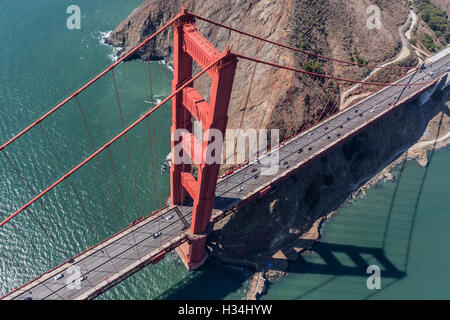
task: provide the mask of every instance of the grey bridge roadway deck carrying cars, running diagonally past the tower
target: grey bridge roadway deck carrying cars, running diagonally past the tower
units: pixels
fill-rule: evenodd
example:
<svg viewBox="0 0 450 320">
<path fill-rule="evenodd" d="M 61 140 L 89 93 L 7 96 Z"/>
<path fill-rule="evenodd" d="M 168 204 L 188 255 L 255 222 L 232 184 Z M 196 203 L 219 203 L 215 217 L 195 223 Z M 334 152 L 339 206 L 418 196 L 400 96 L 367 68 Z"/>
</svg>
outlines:
<svg viewBox="0 0 450 320">
<path fill-rule="evenodd" d="M 399 82 L 419 83 L 436 80 L 447 73 L 450 49 L 423 70 L 410 72 Z M 272 174 L 264 159 L 252 162 L 218 181 L 212 221 L 233 212 L 246 201 L 262 196 L 271 185 L 320 156 L 330 148 L 357 134 L 364 127 L 413 99 L 430 85 L 390 86 L 345 109 L 308 131 L 291 138 L 272 151 L 279 152 L 279 170 Z M 376 106 L 376 107 L 374 107 Z M 302 152 L 299 150 L 302 149 Z M 178 211 L 178 212 L 177 212 Z M 170 220 L 168 216 L 173 215 Z M 166 207 L 77 257 L 30 281 L 4 299 L 92 299 L 145 266 L 156 263 L 164 254 L 187 241 L 192 215 L 189 204 Z M 185 226 L 185 227 L 183 227 Z M 161 230 L 161 235 L 153 235 Z M 73 277 L 71 266 L 79 267 L 86 279 L 79 288 L 67 280 Z M 55 280 L 55 276 L 64 277 Z M 75 283 L 76 284 L 76 283 Z M 70 288 L 70 286 L 74 286 Z"/>
</svg>

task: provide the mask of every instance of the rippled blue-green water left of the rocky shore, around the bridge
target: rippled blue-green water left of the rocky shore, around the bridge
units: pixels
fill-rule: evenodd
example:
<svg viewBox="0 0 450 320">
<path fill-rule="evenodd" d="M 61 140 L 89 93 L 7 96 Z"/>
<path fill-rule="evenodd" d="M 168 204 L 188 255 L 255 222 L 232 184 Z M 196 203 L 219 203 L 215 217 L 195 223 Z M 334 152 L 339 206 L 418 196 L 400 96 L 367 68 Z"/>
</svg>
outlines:
<svg viewBox="0 0 450 320">
<path fill-rule="evenodd" d="M 1 143 L 108 67 L 114 50 L 102 44 L 102 37 L 141 3 L 141 0 L 79 0 L 76 3 L 65 0 L 1 1 Z M 66 9 L 72 4 L 81 9 L 81 30 L 68 30 L 66 27 L 69 16 Z M 154 97 L 150 98 L 147 68 L 142 61 L 131 61 L 119 65 L 114 71 L 125 125 L 170 94 L 171 70 L 162 63 L 152 62 Z M 78 98 L 98 148 L 122 126 L 111 74 Z M 151 139 L 157 143 L 153 156 L 158 155 L 155 163 L 158 171 L 170 152 L 170 108 L 169 103 L 156 113 L 156 137 L 153 135 L 153 118 L 149 119 Z M 157 190 L 153 190 L 146 125 L 144 121 L 127 135 L 139 199 L 133 188 L 126 144 L 121 139 L 111 147 L 111 154 L 125 205 L 115 184 L 108 153 L 103 152 L 98 162 L 91 161 L 70 177 L 88 215 L 80 208 L 71 185 L 63 182 L 43 198 L 43 204 L 32 205 L 12 223 L 1 228 L 0 294 L 160 207 L 159 200 L 154 198 Z M 8 158 L 35 192 L 42 191 L 91 153 L 89 136 L 75 101 L 66 104 L 44 120 L 42 127 L 36 126 L 6 149 Z M 33 197 L 8 158 L 0 155 L 2 219 Z M 99 163 L 105 172 L 113 202 L 108 196 Z M 169 194 L 168 173 L 161 174 L 160 180 L 164 202 Z M 178 257 L 170 254 L 101 298 L 240 299 L 245 295 L 249 276 L 246 270 L 213 262 L 208 262 L 198 272 L 189 273 Z"/>
</svg>

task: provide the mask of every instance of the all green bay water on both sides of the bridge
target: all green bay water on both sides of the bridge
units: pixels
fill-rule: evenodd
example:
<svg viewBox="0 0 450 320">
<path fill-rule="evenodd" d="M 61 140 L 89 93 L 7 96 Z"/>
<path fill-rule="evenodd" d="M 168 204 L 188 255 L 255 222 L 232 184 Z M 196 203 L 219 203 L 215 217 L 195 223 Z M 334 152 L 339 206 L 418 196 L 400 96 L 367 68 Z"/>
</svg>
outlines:
<svg viewBox="0 0 450 320">
<path fill-rule="evenodd" d="M 66 8 L 74 4 L 72 1 L 0 2 L 0 141 L 11 138 L 111 64 L 113 49 L 103 45 L 101 39 L 141 2 L 79 0 L 81 30 L 66 28 Z M 126 125 L 170 93 L 170 69 L 157 62 L 151 63 L 151 69 L 153 99 L 144 62 L 126 62 L 115 69 Z M 121 128 L 112 84 L 107 75 L 79 96 L 97 148 Z M 170 151 L 170 105 L 157 112 L 155 123 L 157 135 L 151 137 L 157 142 L 160 166 Z M 6 150 L 21 174 L 39 191 L 92 152 L 76 103 L 67 104 L 43 121 L 42 128 L 38 125 Z M 133 189 L 125 141 L 121 139 L 111 148 L 127 210 L 121 203 L 108 154 L 103 153 L 99 163 L 114 204 L 98 162 L 92 161 L 71 177 L 89 217 L 80 209 L 71 186 L 63 183 L 44 197 L 43 205 L 32 205 L 0 229 L 0 294 L 95 244 L 97 236 L 90 228 L 90 219 L 103 239 L 121 230 L 128 219 L 159 207 L 154 199 L 146 130 L 144 122 L 127 135 L 139 199 Z M 32 198 L 7 159 L 0 155 L 1 218 Z M 270 285 L 264 298 L 448 298 L 446 266 L 450 256 L 445 248 L 450 225 L 449 160 L 447 149 L 433 156 L 428 169 L 408 162 L 397 170 L 393 183 L 381 184 L 370 190 L 367 198 L 339 210 L 323 226 L 317 253 L 292 264 L 289 274 Z M 168 174 L 161 174 L 160 179 L 165 199 Z M 355 268 L 355 260 L 361 262 L 355 258 L 358 256 L 369 264 L 382 265 L 382 290 L 367 289 L 367 276 L 361 275 L 365 270 L 357 264 Z M 245 269 L 212 261 L 196 272 L 187 272 L 178 257 L 170 254 L 100 299 L 241 299 L 250 275 Z"/>
</svg>

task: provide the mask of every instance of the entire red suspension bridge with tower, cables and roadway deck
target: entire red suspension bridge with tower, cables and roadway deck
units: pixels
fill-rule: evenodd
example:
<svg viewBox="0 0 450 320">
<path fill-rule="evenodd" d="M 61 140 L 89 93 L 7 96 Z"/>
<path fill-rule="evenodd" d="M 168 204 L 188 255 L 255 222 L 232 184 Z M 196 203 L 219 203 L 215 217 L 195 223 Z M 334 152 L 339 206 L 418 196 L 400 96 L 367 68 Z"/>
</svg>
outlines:
<svg viewBox="0 0 450 320">
<path fill-rule="evenodd" d="M 296 52 L 303 55 L 303 61 L 330 61 L 349 67 L 386 69 L 399 72 L 400 77 L 396 81 L 386 83 L 360 81 L 358 79 L 347 79 L 332 74 L 286 66 L 273 61 L 265 61 L 240 53 L 239 47 L 237 47 L 237 51 L 234 51 L 232 47 L 226 47 L 221 52 L 198 31 L 195 26 L 196 21 L 212 24 L 214 28 L 224 28 L 229 32 L 239 33 L 243 37 L 267 43 L 282 50 Z M 174 79 L 172 82 L 172 93 L 127 125 L 124 121 L 118 82 L 114 70 L 137 51 L 149 50 L 153 43 L 152 40 L 155 40 L 163 32 L 168 31 L 169 28 L 173 30 Z M 79 249 L 72 243 L 73 250 L 79 249 L 79 252 L 81 251 L 80 254 L 75 257 L 66 254 L 61 264 L 50 271 L 29 279 L 29 282 L 19 288 L 11 288 L 11 291 L 4 295 L 3 299 L 92 299 L 149 264 L 161 261 L 172 250 L 177 251 L 186 268 L 189 270 L 198 268 L 207 259 L 207 235 L 215 222 L 236 212 L 246 202 L 263 197 L 275 184 L 295 173 L 296 170 L 302 168 L 308 162 L 314 161 L 374 121 L 381 119 L 397 107 L 433 87 L 438 79 L 445 74 L 449 63 L 448 60 L 448 54 L 445 54 L 437 61 L 421 68 L 380 67 L 359 64 L 274 42 L 195 15 L 188 12 L 186 7 L 183 7 L 176 17 L 149 36 L 139 46 L 118 59 L 79 90 L 73 92 L 61 103 L 0 146 L 0 151 L 6 162 L 14 170 L 21 183 L 33 195 L 29 201 L 15 208 L 9 215 L 1 217 L 0 228 L 14 225 L 17 216 L 26 214 L 29 219 L 32 219 L 39 226 L 43 234 L 47 235 L 49 241 L 51 241 L 51 250 L 58 250 L 63 254 L 65 250 L 51 236 L 46 225 L 39 220 L 38 215 L 33 212 L 37 210 L 43 211 L 48 215 L 49 219 L 54 219 L 49 212 L 48 205 L 45 203 L 45 198 L 57 186 L 66 183 L 73 191 L 81 211 L 86 216 L 88 221 L 86 228 L 90 229 L 97 239 L 97 243 L 93 243 L 91 247 L 84 249 Z M 204 131 L 215 129 L 225 135 L 233 82 L 236 69 L 239 67 L 239 61 L 248 61 L 254 64 L 247 77 L 249 84 L 247 96 L 244 99 L 240 129 L 248 108 L 257 65 L 265 65 L 273 69 L 284 69 L 306 77 L 307 85 L 305 90 L 308 90 L 312 97 L 312 110 L 318 110 L 318 113 L 316 117 L 307 116 L 303 126 L 295 135 L 284 139 L 279 145 L 262 153 L 255 161 L 246 162 L 244 165 L 238 166 L 224 176 L 219 177 L 220 163 L 206 163 L 203 159 L 197 165 L 197 174 L 194 176 L 190 163 L 177 164 L 173 161 L 175 157 L 173 150 L 177 144 L 181 144 L 182 153 L 185 153 L 190 159 L 196 157 L 196 152 L 205 154 L 211 151 L 212 139 L 207 138 L 203 142 L 199 142 L 193 135 L 193 118 L 201 124 Z M 193 74 L 194 62 L 201 67 L 201 71 L 195 75 Z M 122 127 L 117 135 L 99 146 L 94 143 L 91 128 L 83 111 L 86 106 L 81 104 L 79 97 L 107 74 L 110 74 L 112 78 L 111 85 L 114 89 Z M 208 76 L 211 81 L 209 101 L 202 97 L 194 88 L 195 82 L 200 77 L 205 76 Z M 152 97 L 150 62 L 148 63 L 148 77 L 150 83 L 149 92 Z M 378 90 L 372 90 L 373 93 L 369 97 L 354 103 L 351 107 L 339 110 L 340 99 L 335 98 L 339 96 L 339 86 L 345 84 L 361 84 L 366 87 L 377 88 Z M 328 87 L 332 88 L 332 90 L 327 96 L 323 93 L 325 93 L 325 88 Z M 180 129 L 184 130 L 184 134 L 179 140 L 171 139 L 170 198 L 168 201 L 164 201 L 160 188 L 161 178 L 158 175 L 158 155 L 154 153 L 157 153 L 156 144 L 165 143 L 165 141 L 157 140 L 155 111 L 167 106 L 169 101 L 172 103 L 172 135 L 176 130 Z M 68 105 L 69 102 L 75 102 L 79 110 L 83 126 L 89 137 L 92 153 L 83 161 L 74 165 L 72 169 L 55 179 L 50 185 L 35 186 L 14 163 L 8 154 L 8 150 L 12 144 L 20 140 L 25 134 L 29 134 L 33 128 L 39 127 L 42 137 L 48 143 L 49 152 L 56 159 L 58 165 L 62 167 L 54 142 L 51 141 L 46 133 L 45 121 L 51 118 L 58 110 Z M 127 139 L 130 131 L 139 124 L 145 124 L 146 127 L 149 149 L 145 152 L 148 152 L 151 162 L 155 203 L 158 203 L 161 207 L 152 213 L 145 213 L 143 210 L 140 188 L 137 184 L 136 171 Z M 140 218 L 134 221 L 131 221 L 123 186 L 117 175 L 117 163 L 115 163 L 112 155 L 111 146 L 118 141 L 125 142 L 129 175 L 133 184 L 133 192 L 138 202 Z M 191 145 L 186 143 L 188 141 L 194 141 L 194 144 L 200 145 L 201 148 L 191 148 Z M 279 165 L 279 170 L 275 173 L 265 174 L 267 173 L 265 172 L 267 168 L 261 165 L 261 160 L 270 157 L 274 152 L 277 152 L 279 155 L 279 163 L 277 164 Z M 105 173 L 107 169 L 99 160 L 100 154 L 107 155 L 114 181 L 108 181 Z M 125 219 L 128 223 L 125 229 L 106 239 L 101 239 L 94 220 L 91 218 L 91 213 L 85 205 L 86 195 L 82 194 L 71 180 L 71 177 L 76 172 L 91 162 L 96 164 L 95 168 L 100 172 L 106 196 L 114 209 L 115 219 L 117 219 L 118 223 L 121 219 Z M 120 197 L 118 201 L 122 208 L 120 208 L 120 205 L 117 205 L 117 200 L 112 195 L 114 185 L 119 192 Z M 54 223 L 58 225 L 56 221 Z M 16 232 L 11 234 L 11 237 L 23 237 L 32 247 L 39 250 L 34 246 L 32 239 L 26 236 L 26 232 L 24 234 L 20 230 L 20 225 L 14 225 L 12 230 Z M 64 230 L 64 227 L 61 227 L 60 231 L 66 241 L 70 243 L 71 239 L 68 235 L 68 230 Z M 10 265 L 17 266 L 18 269 L 21 268 L 21 262 L 17 261 L 20 259 L 7 255 L 3 249 L 0 251 L 0 259 Z M 67 274 L 68 270 L 74 266 L 81 270 L 79 282 L 81 285 L 76 289 L 66 290 L 71 284 L 58 281 L 58 277 Z M 81 280 L 86 281 L 81 282 Z"/>
</svg>

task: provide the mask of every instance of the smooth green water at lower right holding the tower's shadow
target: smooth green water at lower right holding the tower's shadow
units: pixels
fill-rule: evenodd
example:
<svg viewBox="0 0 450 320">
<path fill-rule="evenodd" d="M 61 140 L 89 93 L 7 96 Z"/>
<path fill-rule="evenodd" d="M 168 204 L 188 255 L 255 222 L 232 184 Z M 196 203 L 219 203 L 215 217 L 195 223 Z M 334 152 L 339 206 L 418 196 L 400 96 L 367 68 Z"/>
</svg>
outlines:
<svg viewBox="0 0 450 320">
<path fill-rule="evenodd" d="M 323 225 L 321 242 L 291 264 L 264 299 L 450 298 L 450 150 L 394 170 L 395 180 L 345 205 Z M 381 289 L 367 288 L 367 265 Z"/>
</svg>

